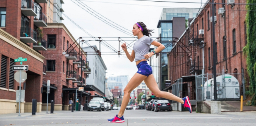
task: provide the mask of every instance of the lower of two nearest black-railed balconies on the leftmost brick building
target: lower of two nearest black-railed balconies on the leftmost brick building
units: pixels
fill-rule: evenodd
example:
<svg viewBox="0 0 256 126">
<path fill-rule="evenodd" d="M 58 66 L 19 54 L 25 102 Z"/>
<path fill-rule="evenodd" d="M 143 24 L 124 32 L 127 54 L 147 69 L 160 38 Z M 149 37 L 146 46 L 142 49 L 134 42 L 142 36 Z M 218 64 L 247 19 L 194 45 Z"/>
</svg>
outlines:
<svg viewBox="0 0 256 126">
<path fill-rule="evenodd" d="M 36 43 L 36 31 L 30 27 L 20 28 L 20 41 L 23 43 Z"/>
</svg>

